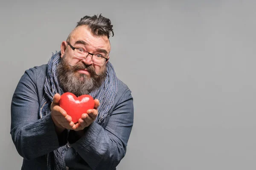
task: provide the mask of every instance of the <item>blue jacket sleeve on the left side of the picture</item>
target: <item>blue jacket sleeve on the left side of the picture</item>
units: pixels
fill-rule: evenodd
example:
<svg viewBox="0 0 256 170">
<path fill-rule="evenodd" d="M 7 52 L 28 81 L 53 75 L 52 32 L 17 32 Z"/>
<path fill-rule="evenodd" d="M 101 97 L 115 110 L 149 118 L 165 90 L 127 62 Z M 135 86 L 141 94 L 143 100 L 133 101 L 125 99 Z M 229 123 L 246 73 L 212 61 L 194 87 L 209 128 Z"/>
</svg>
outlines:
<svg viewBox="0 0 256 170">
<path fill-rule="evenodd" d="M 51 115 L 39 119 L 35 68 L 21 77 L 11 105 L 11 135 L 17 152 L 24 159 L 43 156 L 59 147 Z"/>
</svg>

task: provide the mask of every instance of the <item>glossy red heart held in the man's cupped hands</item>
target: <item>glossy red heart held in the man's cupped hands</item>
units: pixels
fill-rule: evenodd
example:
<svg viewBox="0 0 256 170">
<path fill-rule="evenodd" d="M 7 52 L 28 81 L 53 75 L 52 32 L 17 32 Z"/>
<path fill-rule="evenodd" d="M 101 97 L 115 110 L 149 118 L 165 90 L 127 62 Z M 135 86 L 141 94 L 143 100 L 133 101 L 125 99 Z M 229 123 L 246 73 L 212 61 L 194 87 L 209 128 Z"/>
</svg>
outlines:
<svg viewBox="0 0 256 170">
<path fill-rule="evenodd" d="M 73 93 L 67 92 L 61 95 L 60 107 L 72 117 L 74 123 L 78 122 L 83 113 L 94 108 L 94 100 L 90 95 L 76 97 Z"/>
</svg>

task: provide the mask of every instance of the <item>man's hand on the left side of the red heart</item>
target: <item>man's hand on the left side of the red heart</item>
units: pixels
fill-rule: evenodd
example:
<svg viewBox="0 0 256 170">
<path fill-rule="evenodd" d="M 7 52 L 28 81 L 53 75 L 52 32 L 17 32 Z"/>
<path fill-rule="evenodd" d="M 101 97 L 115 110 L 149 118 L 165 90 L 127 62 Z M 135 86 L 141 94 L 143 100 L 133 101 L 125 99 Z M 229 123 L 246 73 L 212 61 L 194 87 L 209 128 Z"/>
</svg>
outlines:
<svg viewBox="0 0 256 170">
<path fill-rule="evenodd" d="M 67 112 L 60 107 L 59 101 L 61 99 L 60 94 L 55 94 L 51 104 L 51 116 L 52 121 L 55 124 L 55 130 L 57 133 L 63 132 L 65 129 L 74 129 L 76 125 L 72 122 L 71 116 L 67 115 Z"/>
</svg>

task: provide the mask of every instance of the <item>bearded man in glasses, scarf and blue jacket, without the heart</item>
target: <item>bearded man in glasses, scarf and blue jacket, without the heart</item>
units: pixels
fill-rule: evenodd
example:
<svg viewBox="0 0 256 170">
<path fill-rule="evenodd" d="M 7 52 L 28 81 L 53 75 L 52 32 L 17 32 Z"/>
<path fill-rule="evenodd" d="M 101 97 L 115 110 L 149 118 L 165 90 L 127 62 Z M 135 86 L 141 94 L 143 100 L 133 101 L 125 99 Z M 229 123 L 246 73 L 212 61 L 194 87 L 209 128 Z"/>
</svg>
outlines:
<svg viewBox="0 0 256 170">
<path fill-rule="evenodd" d="M 113 170 L 125 156 L 133 98 L 108 61 L 111 21 L 85 16 L 47 65 L 30 68 L 12 99 L 11 135 L 22 170 Z M 90 94 L 95 107 L 73 122 L 61 94 Z"/>
</svg>

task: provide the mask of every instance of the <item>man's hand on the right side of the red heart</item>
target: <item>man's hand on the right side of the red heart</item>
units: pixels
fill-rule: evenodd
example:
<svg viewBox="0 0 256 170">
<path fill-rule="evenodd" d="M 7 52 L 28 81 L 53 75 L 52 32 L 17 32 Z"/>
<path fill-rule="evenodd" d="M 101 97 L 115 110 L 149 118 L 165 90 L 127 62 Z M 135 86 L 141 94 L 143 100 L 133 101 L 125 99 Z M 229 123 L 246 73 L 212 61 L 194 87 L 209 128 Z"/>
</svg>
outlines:
<svg viewBox="0 0 256 170">
<path fill-rule="evenodd" d="M 97 108 L 99 107 L 99 100 L 95 99 L 94 100 L 95 105 L 93 109 L 87 110 L 87 113 L 83 113 L 81 118 L 78 120 L 78 123 L 73 127 L 73 130 L 79 131 L 83 130 L 84 127 L 89 126 L 92 122 L 95 121 L 96 117 L 98 116 L 98 110 Z"/>
</svg>

